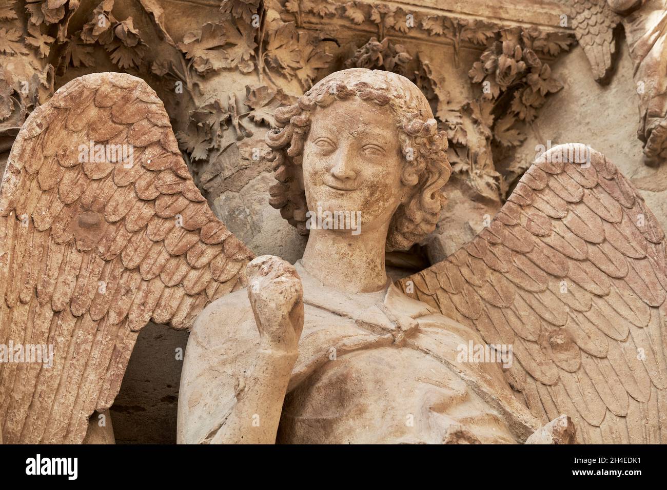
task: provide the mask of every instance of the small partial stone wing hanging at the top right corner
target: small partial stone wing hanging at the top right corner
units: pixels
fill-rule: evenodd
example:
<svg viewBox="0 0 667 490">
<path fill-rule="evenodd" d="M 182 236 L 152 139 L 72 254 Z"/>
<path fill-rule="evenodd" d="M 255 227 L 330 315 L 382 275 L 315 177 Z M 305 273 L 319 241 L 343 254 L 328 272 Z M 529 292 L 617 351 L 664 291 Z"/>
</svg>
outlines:
<svg viewBox="0 0 667 490">
<path fill-rule="evenodd" d="M 566 0 L 572 8 L 572 29 L 584 49 L 593 77 L 600 81 L 612 69 L 616 41 L 614 28 L 620 17 L 609 7 L 607 0 Z"/>
</svg>

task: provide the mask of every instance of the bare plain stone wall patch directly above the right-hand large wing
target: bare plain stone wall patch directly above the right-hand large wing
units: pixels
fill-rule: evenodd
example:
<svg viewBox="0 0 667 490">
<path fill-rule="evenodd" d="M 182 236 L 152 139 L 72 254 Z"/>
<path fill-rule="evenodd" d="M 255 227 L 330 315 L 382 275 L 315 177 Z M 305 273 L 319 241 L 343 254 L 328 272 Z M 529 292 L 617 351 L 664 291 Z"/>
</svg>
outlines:
<svg viewBox="0 0 667 490">
<path fill-rule="evenodd" d="M 554 65 L 562 91 L 550 97 L 528 139 L 501 165 L 525 162 L 538 156 L 536 147 L 551 141 L 558 145 L 576 141 L 602 151 L 640 189 L 648 207 L 667 224 L 667 179 L 664 165 L 643 165 L 642 142 L 636 138 L 638 93 L 632 78 L 632 62 L 625 44 L 620 45 L 616 71 L 608 85 L 596 83 L 587 71 L 580 47 L 572 49 Z"/>
</svg>

